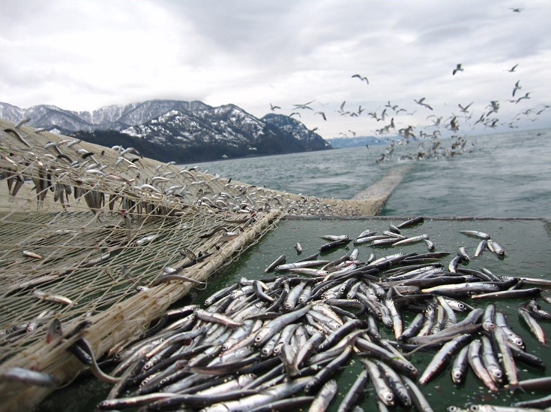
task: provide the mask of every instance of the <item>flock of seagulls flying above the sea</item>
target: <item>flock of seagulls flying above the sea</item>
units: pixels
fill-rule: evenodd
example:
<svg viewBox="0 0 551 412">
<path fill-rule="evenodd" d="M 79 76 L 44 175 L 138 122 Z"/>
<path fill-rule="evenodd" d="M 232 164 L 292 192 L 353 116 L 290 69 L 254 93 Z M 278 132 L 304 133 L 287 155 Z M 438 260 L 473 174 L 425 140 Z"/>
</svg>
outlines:
<svg viewBox="0 0 551 412">
<path fill-rule="evenodd" d="M 521 8 L 510 8 L 512 12 L 519 13 Z M 517 68 L 519 64 L 515 64 L 508 69 L 503 69 L 504 72 L 508 73 L 517 73 Z M 457 65 L 451 70 L 452 76 L 459 76 L 460 72 L 465 72 L 466 68 L 462 63 L 457 63 Z M 363 74 L 353 74 L 351 76 L 353 79 L 360 80 L 360 82 L 365 83 L 366 86 L 370 85 L 369 80 Z M 457 104 L 457 109 L 452 110 L 451 113 L 446 113 L 444 115 L 436 115 L 434 113 L 433 103 L 428 100 L 426 97 L 421 97 L 419 99 L 413 99 L 413 102 L 417 105 L 417 110 L 410 111 L 404 107 L 399 107 L 397 104 L 392 104 L 390 100 L 384 105 L 384 107 L 379 107 L 373 111 L 367 110 L 365 107 L 360 105 L 357 109 L 345 109 L 346 100 L 340 104 L 339 109 L 335 109 L 335 113 L 339 116 L 350 116 L 350 117 L 360 117 L 368 116 L 377 122 L 382 122 L 382 126 L 377 127 L 371 130 L 371 133 L 375 133 L 382 138 L 386 138 L 388 141 L 388 147 L 386 151 L 382 153 L 382 156 L 377 162 L 382 162 L 384 160 L 390 160 L 393 156 L 395 146 L 398 145 L 407 145 L 410 142 L 415 141 L 418 143 L 417 151 L 415 153 L 410 153 L 403 155 L 402 158 L 408 159 L 426 159 L 432 157 L 449 157 L 463 153 L 462 150 L 465 147 L 466 143 L 466 133 L 468 131 L 474 131 L 476 128 L 484 127 L 484 129 L 496 129 L 497 127 L 508 127 L 510 129 L 516 129 L 520 121 L 536 121 L 543 111 L 550 109 L 551 105 L 534 105 L 534 107 L 525 107 L 521 103 L 526 103 L 532 97 L 532 91 L 527 91 L 525 94 L 521 94 L 519 91 L 522 89 L 521 80 L 517 80 L 514 85 L 512 85 L 511 98 L 506 100 L 506 102 L 501 102 L 499 100 L 490 100 L 486 106 L 480 111 L 481 105 L 477 103 L 478 109 L 473 107 L 475 104 L 474 101 L 464 104 L 459 102 Z M 302 118 L 301 111 L 313 111 L 315 115 L 319 115 L 324 121 L 327 121 L 329 116 L 325 111 L 320 111 L 313 107 L 313 104 L 317 103 L 318 105 L 325 106 L 324 104 L 318 102 L 317 100 L 311 100 L 306 103 L 300 103 L 292 105 L 291 113 L 289 117 L 297 116 Z M 500 118 L 500 109 L 503 103 L 508 105 L 514 105 L 515 107 L 519 105 L 519 111 L 510 119 L 504 120 Z M 475 105 L 475 106 L 477 106 Z M 271 111 L 276 111 L 282 109 L 280 106 L 273 105 L 270 103 Z M 509 109 L 509 107 L 508 107 Z M 413 116 L 417 111 L 426 111 L 428 116 L 426 116 L 423 124 L 411 124 L 411 118 L 406 116 Z M 427 112 L 427 111 L 430 111 Z M 417 113 L 417 118 L 419 118 Z M 402 125 L 403 127 L 397 127 L 397 124 Z M 318 127 L 311 129 L 311 131 L 318 130 Z M 444 133 L 443 133 L 444 132 Z M 339 133 L 341 137 L 349 138 L 356 136 L 356 131 L 348 130 L 346 133 Z M 450 137 L 452 142 L 448 144 L 448 147 L 444 149 L 444 144 L 442 144 L 440 138 Z M 425 140 L 430 140 L 431 144 L 427 145 Z M 447 144 L 447 143 L 446 143 Z M 412 145 L 413 146 L 413 145 Z M 428 146 L 428 147 L 426 147 Z M 369 149 L 369 147 L 367 147 Z"/>
</svg>

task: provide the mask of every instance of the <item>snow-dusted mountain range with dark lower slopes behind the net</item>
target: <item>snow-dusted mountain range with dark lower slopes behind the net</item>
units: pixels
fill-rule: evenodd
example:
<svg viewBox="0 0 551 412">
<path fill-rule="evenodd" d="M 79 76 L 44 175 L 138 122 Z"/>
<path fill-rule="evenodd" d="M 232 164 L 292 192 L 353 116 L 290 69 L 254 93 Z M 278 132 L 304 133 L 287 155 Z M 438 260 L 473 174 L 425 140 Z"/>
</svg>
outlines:
<svg viewBox="0 0 551 412">
<path fill-rule="evenodd" d="M 0 118 L 16 123 L 31 118 L 33 127 L 105 146 L 127 144 L 147 157 L 179 163 L 332 149 L 288 116 L 258 119 L 236 105 L 211 107 L 198 101 L 147 100 L 94 111 L 52 105 L 21 109 L 0 102 Z"/>
</svg>

